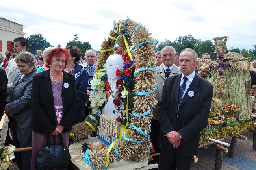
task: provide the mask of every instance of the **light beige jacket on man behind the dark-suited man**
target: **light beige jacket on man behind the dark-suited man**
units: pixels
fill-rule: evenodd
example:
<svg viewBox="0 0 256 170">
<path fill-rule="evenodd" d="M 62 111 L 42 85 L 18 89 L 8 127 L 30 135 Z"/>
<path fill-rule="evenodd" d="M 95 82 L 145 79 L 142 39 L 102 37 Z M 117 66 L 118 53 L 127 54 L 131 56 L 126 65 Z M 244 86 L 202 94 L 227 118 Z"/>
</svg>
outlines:
<svg viewBox="0 0 256 170">
<path fill-rule="evenodd" d="M 178 68 L 176 65 L 174 65 L 173 70 L 171 71 L 169 77 L 177 75 L 177 74 L 181 74 L 180 68 Z M 156 108 L 158 102 L 161 101 L 161 96 L 162 96 L 162 91 L 163 91 L 163 84 L 165 82 L 165 79 L 166 78 L 165 78 L 165 72 L 163 70 L 163 64 L 161 64 L 156 69 L 156 84 L 157 84 L 157 87 L 156 87 L 156 91 L 155 91 L 156 97 L 154 98 L 154 108 Z M 159 120 L 159 116 L 158 116 L 157 111 L 154 111 L 153 115 L 154 115 L 153 119 Z"/>
</svg>

